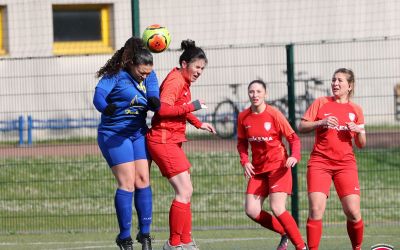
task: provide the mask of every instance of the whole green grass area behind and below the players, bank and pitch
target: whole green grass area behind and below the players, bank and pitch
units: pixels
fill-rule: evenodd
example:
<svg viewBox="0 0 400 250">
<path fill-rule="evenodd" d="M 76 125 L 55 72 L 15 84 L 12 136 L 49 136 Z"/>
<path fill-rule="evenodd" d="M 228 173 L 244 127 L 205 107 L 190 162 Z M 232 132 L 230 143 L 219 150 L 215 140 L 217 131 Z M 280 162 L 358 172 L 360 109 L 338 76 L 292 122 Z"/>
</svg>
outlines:
<svg viewBox="0 0 400 250">
<path fill-rule="evenodd" d="M 373 243 L 399 246 L 399 152 L 399 149 L 357 152 L 366 224 L 365 246 Z M 189 158 L 195 188 L 193 226 L 202 249 L 270 249 L 265 246 L 275 246 L 277 237 L 259 229 L 244 214 L 246 183 L 237 154 L 191 153 Z M 307 158 L 308 154 L 304 154 L 298 165 L 302 230 L 307 218 Z M 116 186 L 101 156 L 2 158 L 0 171 L 0 249 L 115 248 L 112 241 L 117 232 L 113 206 Z M 153 166 L 151 171 L 155 246 L 161 246 L 167 237 L 162 232 L 168 225 L 173 192 L 157 167 Z M 348 249 L 345 217 L 335 191 L 331 192 L 321 249 Z M 206 230 L 212 228 L 252 229 Z M 28 245 L 37 248 L 28 248 Z"/>
</svg>

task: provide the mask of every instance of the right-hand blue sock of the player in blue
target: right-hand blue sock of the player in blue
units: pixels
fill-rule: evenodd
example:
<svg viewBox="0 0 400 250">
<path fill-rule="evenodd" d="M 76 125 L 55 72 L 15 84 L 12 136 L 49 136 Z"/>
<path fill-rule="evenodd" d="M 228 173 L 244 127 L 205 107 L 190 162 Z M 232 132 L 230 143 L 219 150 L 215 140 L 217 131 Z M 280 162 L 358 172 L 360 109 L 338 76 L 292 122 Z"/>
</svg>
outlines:
<svg viewBox="0 0 400 250">
<path fill-rule="evenodd" d="M 138 215 L 139 230 L 142 234 L 150 233 L 153 213 L 153 201 L 151 187 L 135 190 L 135 208 Z"/>
</svg>

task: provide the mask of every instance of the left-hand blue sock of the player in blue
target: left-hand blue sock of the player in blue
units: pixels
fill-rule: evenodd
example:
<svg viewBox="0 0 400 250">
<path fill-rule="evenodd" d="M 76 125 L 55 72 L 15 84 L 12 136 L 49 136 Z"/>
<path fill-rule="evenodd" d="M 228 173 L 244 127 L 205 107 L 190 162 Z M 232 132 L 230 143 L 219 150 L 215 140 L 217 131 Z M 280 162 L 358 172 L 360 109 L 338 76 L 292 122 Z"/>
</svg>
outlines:
<svg viewBox="0 0 400 250">
<path fill-rule="evenodd" d="M 131 236 L 132 198 L 133 192 L 122 189 L 117 189 L 115 192 L 114 205 L 120 231 L 118 237 L 121 240 Z"/>
</svg>

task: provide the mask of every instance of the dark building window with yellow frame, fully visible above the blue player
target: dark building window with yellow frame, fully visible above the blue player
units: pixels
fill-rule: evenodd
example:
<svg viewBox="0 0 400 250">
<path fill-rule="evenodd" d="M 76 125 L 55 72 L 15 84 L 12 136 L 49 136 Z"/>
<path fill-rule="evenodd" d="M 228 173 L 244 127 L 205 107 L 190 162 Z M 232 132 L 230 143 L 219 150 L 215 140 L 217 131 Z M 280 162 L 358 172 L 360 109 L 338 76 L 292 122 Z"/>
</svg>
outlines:
<svg viewBox="0 0 400 250">
<path fill-rule="evenodd" d="M 56 55 L 112 53 L 109 5 L 53 5 Z"/>
</svg>

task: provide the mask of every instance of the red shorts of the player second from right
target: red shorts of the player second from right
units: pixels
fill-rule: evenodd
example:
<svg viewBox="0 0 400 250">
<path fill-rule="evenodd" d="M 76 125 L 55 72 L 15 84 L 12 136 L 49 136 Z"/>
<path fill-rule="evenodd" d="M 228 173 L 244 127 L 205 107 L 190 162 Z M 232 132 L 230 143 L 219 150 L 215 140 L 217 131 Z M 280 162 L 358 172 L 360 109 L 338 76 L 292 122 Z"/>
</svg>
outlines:
<svg viewBox="0 0 400 250">
<path fill-rule="evenodd" d="M 292 194 L 292 169 L 280 167 L 255 175 L 247 183 L 246 194 L 268 197 L 270 193 L 284 192 Z"/>
</svg>

